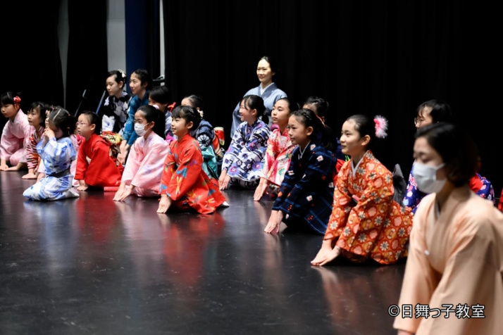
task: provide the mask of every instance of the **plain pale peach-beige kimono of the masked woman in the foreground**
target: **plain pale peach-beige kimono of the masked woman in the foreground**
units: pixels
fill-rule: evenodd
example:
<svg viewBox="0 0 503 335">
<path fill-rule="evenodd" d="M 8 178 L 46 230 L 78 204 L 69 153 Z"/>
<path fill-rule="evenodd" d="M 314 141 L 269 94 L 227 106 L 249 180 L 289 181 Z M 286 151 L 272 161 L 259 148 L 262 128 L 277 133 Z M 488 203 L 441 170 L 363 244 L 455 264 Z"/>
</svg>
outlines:
<svg viewBox="0 0 503 335">
<path fill-rule="evenodd" d="M 470 191 L 454 189 L 437 217 L 435 194 L 421 201 L 414 216 L 399 308 L 412 305 L 412 318 L 395 319 L 393 327 L 421 334 L 503 334 L 503 214 Z M 416 304 L 442 312 L 415 317 Z M 485 318 L 458 318 L 456 307 L 485 305 Z"/>
</svg>

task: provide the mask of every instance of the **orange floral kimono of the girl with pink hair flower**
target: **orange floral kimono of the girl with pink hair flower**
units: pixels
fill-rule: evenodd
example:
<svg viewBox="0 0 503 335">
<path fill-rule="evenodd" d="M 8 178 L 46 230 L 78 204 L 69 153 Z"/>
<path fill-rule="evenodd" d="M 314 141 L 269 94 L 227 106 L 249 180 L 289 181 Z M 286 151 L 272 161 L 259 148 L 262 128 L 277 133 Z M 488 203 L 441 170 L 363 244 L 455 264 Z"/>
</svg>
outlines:
<svg viewBox="0 0 503 335">
<path fill-rule="evenodd" d="M 337 239 L 349 259 L 395 263 L 406 253 L 411 211 L 393 201 L 392 174 L 371 151 L 352 170 L 349 160 L 337 175 L 325 239 Z"/>
</svg>

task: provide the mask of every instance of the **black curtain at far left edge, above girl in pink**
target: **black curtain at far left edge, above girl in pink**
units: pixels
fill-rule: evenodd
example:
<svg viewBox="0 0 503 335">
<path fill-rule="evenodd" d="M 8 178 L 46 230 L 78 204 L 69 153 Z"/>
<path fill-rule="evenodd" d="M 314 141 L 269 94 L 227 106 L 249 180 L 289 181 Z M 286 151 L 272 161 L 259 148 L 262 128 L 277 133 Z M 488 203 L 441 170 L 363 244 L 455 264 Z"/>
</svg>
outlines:
<svg viewBox="0 0 503 335">
<path fill-rule="evenodd" d="M 5 1 L 1 5 L 0 93 L 22 93 L 25 113 L 32 101 L 63 104 L 58 10 L 59 1 Z M 5 123 L 6 118 L 0 116 L 0 129 Z"/>
</svg>

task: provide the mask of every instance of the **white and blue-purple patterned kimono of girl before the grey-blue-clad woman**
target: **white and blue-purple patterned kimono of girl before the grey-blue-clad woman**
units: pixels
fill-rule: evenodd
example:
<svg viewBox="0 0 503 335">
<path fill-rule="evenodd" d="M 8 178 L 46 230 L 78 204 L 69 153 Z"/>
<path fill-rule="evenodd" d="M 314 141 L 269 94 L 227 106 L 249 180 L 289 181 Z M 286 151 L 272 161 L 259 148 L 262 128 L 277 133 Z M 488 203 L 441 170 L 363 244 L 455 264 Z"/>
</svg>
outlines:
<svg viewBox="0 0 503 335">
<path fill-rule="evenodd" d="M 259 119 L 251 126 L 242 122 L 237 128 L 222 164 L 222 170 L 227 170 L 231 182 L 232 179 L 259 182 L 270 133 L 269 127 Z"/>
</svg>

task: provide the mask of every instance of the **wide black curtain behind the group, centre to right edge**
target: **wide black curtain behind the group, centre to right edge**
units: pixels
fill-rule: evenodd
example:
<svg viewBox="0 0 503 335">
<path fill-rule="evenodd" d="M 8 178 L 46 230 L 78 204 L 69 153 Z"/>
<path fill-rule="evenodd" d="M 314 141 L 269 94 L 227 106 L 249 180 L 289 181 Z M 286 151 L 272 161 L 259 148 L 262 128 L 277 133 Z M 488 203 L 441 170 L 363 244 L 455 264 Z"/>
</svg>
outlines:
<svg viewBox="0 0 503 335">
<path fill-rule="evenodd" d="M 165 1 L 166 78 L 178 103 L 203 96 L 205 118 L 229 139 L 232 110 L 259 84 L 256 63 L 275 56 L 278 87 L 299 103 L 327 99 L 337 132 L 356 113 L 388 118 L 376 156 L 404 173 L 416 106 L 445 100 L 476 140 L 480 173 L 498 193 L 503 180 L 490 144 L 501 124 L 488 122 L 498 92 L 486 79 L 501 73 L 495 16 L 463 1 Z"/>
</svg>

